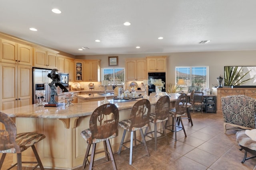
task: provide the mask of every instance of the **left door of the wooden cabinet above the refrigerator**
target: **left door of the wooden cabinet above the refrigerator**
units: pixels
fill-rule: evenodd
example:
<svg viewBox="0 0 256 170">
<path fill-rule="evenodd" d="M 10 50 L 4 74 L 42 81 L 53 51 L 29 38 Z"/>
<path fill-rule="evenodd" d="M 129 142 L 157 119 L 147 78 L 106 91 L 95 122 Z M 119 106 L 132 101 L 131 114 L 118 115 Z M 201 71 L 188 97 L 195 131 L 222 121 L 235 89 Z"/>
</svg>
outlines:
<svg viewBox="0 0 256 170">
<path fill-rule="evenodd" d="M 34 66 L 47 68 L 47 53 L 44 50 L 34 48 Z"/>
</svg>

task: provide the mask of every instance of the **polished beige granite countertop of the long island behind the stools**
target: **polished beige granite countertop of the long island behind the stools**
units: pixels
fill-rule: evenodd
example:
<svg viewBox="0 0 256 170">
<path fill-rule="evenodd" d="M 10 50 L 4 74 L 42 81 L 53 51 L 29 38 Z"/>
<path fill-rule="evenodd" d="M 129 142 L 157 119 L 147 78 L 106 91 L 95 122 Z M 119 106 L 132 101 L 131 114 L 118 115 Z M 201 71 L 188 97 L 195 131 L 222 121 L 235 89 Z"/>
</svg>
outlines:
<svg viewBox="0 0 256 170">
<path fill-rule="evenodd" d="M 170 94 L 171 102 L 175 102 L 179 94 Z M 151 105 L 155 105 L 157 98 L 149 96 Z M 115 104 L 119 111 L 131 109 L 132 106 L 141 99 L 132 101 L 118 102 L 118 100 L 109 100 L 110 103 Z M 36 104 L 15 107 L 12 109 L 2 110 L 1 112 L 6 113 L 10 117 L 35 117 L 35 118 L 48 118 L 48 119 L 69 119 L 73 117 L 82 117 L 91 115 L 92 112 L 101 105 L 100 101 L 74 103 L 73 106 L 65 107 L 65 104 L 58 107 L 46 107 L 36 106 Z"/>
</svg>

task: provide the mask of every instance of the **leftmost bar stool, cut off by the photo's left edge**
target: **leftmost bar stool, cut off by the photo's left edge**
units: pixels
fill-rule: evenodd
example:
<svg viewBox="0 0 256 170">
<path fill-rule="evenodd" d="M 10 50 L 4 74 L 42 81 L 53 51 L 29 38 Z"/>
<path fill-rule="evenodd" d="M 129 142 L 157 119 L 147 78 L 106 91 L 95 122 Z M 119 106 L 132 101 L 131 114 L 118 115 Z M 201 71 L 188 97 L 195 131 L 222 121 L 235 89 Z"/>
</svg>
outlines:
<svg viewBox="0 0 256 170">
<path fill-rule="evenodd" d="M 5 129 L 0 130 L 0 153 L 2 157 L 0 160 L 0 169 L 4 163 L 4 158 L 6 153 L 16 153 L 17 154 L 17 163 L 12 165 L 9 169 L 17 165 L 18 170 L 22 170 L 22 163 L 24 164 L 36 164 L 33 169 L 40 166 L 41 170 L 44 170 L 44 166 L 40 160 L 38 152 L 36 151 L 35 144 L 45 138 L 45 135 L 41 133 L 26 132 L 18 133 L 16 130 L 16 125 L 12 119 L 5 113 L 0 112 L 0 122 L 4 124 Z M 34 155 L 36 156 L 37 162 L 22 162 L 22 152 L 29 147 L 32 148 Z"/>
</svg>

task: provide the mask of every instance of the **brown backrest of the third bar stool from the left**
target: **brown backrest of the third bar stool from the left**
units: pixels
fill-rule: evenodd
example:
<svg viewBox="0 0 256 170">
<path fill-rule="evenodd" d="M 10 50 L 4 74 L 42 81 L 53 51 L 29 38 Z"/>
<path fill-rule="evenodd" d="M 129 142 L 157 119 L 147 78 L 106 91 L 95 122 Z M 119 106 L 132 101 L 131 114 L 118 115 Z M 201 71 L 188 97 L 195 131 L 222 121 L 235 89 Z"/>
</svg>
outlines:
<svg viewBox="0 0 256 170">
<path fill-rule="evenodd" d="M 131 125 L 129 131 L 132 131 L 133 128 L 144 127 L 149 124 L 151 106 L 150 102 L 147 99 L 142 99 L 136 102 L 132 106 L 130 113 Z"/>
</svg>

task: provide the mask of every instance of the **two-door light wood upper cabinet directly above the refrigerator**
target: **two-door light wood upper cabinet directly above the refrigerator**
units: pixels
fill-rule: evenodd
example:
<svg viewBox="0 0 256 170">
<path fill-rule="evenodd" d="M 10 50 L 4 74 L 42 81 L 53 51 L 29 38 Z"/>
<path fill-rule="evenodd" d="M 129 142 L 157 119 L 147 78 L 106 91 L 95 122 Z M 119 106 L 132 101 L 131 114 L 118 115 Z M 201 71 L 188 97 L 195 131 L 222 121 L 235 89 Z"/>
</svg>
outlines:
<svg viewBox="0 0 256 170">
<path fill-rule="evenodd" d="M 57 68 L 57 53 L 47 49 L 34 48 L 33 66 L 41 68 Z"/>
</svg>

